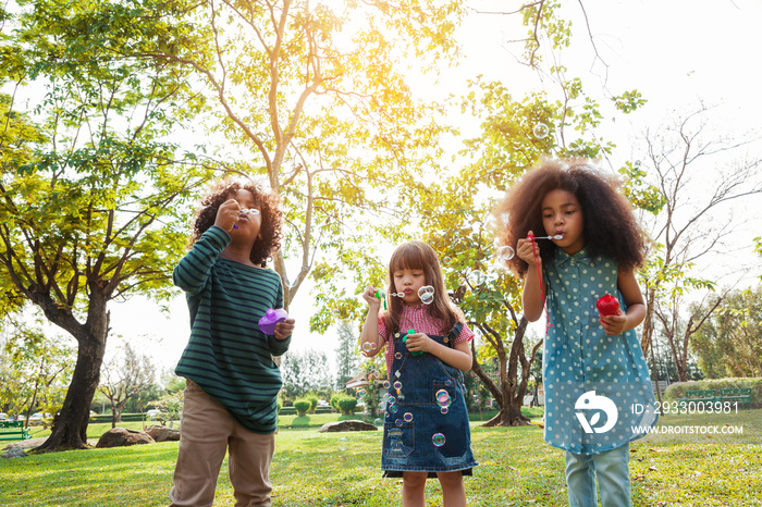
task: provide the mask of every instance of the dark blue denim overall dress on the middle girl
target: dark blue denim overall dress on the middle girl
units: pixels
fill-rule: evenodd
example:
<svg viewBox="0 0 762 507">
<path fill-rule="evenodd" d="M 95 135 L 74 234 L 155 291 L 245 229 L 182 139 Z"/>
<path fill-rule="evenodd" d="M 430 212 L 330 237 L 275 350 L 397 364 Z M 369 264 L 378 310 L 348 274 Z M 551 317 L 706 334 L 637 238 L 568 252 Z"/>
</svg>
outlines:
<svg viewBox="0 0 762 507">
<path fill-rule="evenodd" d="M 453 347 L 462 327 L 457 323 L 447 336 L 429 337 Z M 463 373 L 431 354 L 414 356 L 404 336 L 398 331 L 392 334 L 394 360 L 384 395 L 383 477 L 398 478 L 403 471 L 429 472 L 430 478 L 453 471 L 470 475 L 478 463 L 471 453 Z"/>
</svg>

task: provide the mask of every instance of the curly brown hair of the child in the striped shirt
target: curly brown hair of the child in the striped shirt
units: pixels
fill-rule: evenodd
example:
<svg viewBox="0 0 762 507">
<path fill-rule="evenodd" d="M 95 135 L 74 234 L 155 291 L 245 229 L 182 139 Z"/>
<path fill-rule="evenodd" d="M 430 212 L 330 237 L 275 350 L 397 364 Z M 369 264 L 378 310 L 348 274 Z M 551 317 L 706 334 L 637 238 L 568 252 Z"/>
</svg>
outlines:
<svg viewBox="0 0 762 507">
<path fill-rule="evenodd" d="M 196 211 L 193 227 L 193 245 L 209 227 L 214 225 L 217 211 L 229 196 L 241 190 L 248 190 L 254 196 L 254 201 L 259 205 L 262 215 L 262 224 L 259 228 L 259 238 L 254 242 L 249 259 L 257 265 L 265 268 L 272 253 L 281 248 L 281 227 L 283 224 L 283 211 L 280 208 L 280 198 L 256 183 L 239 183 L 222 180 L 212 184 L 209 193 L 201 198 L 201 207 Z"/>
</svg>

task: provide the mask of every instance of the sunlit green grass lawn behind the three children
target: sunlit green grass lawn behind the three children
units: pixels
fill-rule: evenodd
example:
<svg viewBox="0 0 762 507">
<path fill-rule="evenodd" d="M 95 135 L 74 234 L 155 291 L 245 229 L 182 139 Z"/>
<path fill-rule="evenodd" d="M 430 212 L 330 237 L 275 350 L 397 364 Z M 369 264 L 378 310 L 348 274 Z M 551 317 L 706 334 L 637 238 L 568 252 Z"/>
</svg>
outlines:
<svg viewBox="0 0 762 507">
<path fill-rule="evenodd" d="M 742 425 L 743 435 L 650 435 L 635 442 L 634 505 L 762 506 L 762 410 L 661 420 L 674 423 Z M 538 426 L 472 423 L 471 435 L 480 466 L 466 479 L 469 506 L 568 505 L 564 454 L 544 444 Z M 380 448 L 380 431 L 282 429 L 271 470 L 273 505 L 398 505 L 401 483 L 381 478 Z M 48 506 L 167 505 L 176 454 L 173 442 L 2 459 L 0 505 L 30 505 L 32 498 Z M 429 506 L 442 505 L 437 481 L 428 481 L 427 491 Z M 234 505 L 226 463 L 214 505 Z"/>
</svg>

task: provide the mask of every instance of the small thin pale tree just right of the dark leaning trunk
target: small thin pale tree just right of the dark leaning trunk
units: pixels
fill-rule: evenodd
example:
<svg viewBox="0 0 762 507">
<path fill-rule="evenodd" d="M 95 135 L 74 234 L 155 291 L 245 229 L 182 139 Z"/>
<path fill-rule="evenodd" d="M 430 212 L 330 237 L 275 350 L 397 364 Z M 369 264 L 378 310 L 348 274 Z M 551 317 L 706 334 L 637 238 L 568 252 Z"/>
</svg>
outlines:
<svg viewBox="0 0 762 507">
<path fill-rule="evenodd" d="M 146 355 L 137 351 L 125 342 L 120 353 L 111 361 L 103 363 L 101 383 L 98 391 L 111 404 L 111 428 L 122 420 L 122 411 L 135 395 L 148 389 L 156 381 L 156 368 Z"/>
</svg>

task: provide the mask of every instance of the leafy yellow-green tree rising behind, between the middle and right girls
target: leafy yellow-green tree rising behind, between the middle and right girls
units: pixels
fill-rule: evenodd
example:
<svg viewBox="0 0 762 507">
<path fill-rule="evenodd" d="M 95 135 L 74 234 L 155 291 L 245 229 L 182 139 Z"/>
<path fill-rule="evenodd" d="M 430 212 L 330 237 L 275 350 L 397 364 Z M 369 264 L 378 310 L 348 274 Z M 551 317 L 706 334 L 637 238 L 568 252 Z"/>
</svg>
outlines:
<svg viewBox="0 0 762 507">
<path fill-rule="evenodd" d="M 568 45 L 564 36 L 568 36 L 568 24 L 552 21 L 557 8 L 555 2 L 537 2 L 526 8 L 523 8 L 526 26 L 544 33 L 554 47 Z M 536 58 L 530 64 L 536 66 L 539 62 Z M 459 106 L 463 113 L 482 123 L 480 133 L 466 139 L 458 153 L 460 161 L 468 162 L 455 174 L 435 163 L 435 183 L 415 182 L 406 191 L 410 222 L 423 231 L 420 238 L 441 255 L 446 285 L 454 287 L 451 298 L 462 307 L 469 325 L 483 341 L 479 348 L 474 344 L 474 372 L 501 408 L 488 425 L 528 422 L 521 416 L 520 406 L 536 351 L 542 344 L 532 344 L 531 350 L 525 348 L 527 321 L 517 311 L 520 286 L 514 277 L 494 269 L 496 264 L 491 262 L 494 199 L 543 156 L 594 159 L 609 154 L 613 148 L 612 144 L 594 136 L 602 120 L 600 106 L 583 94 L 581 81 L 566 77 L 566 69 L 562 66 L 553 66 L 550 72 L 558 89 L 555 100 L 544 92 L 517 100 L 501 83 L 481 77 L 472 79 L 471 89 Z M 622 112 L 630 112 L 643 103 L 635 90 L 612 97 L 612 101 Z M 545 131 L 541 135 L 536 134 L 539 127 Z M 446 234 L 442 234 L 444 231 Z M 398 240 L 408 237 L 403 235 Z M 374 253 L 372 245 L 365 253 Z M 342 262 L 324 269 L 318 267 L 316 279 L 321 282 L 336 272 L 348 271 L 355 275 L 354 294 L 368 283 L 378 284 L 384 280 L 383 267 L 372 257 L 361 255 L 347 261 L 342 256 L 340 259 Z M 483 277 L 486 280 L 481 280 Z M 354 294 L 347 296 L 335 287 L 320 292 L 318 302 L 323 310 L 312 320 L 316 326 L 327 325 L 335 314 L 356 319 L 365 310 Z M 496 381 L 481 368 L 481 361 L 493 358 L 497 363 Z"/>
</svg>

